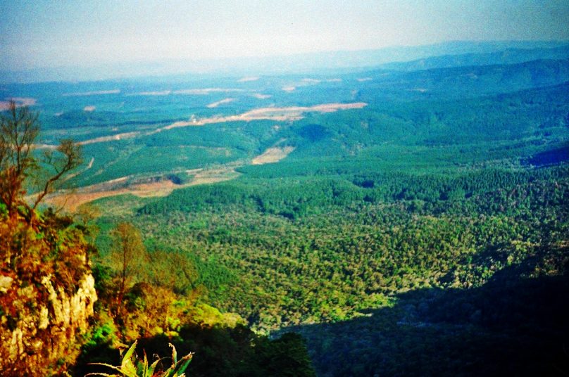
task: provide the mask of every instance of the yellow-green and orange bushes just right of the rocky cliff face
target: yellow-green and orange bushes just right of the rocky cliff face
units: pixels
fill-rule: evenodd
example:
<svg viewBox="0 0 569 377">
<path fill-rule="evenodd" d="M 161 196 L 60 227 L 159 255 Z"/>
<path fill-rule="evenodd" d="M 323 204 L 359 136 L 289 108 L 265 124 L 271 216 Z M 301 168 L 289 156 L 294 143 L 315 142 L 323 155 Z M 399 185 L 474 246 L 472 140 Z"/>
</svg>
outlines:
<svg viewBox="0 0 569 377">
<path fill-rule="evenodd" d="M 107 373 L 120 365 L 116 345 L 138 340 L 139 354 L 194 354 L 192 376 L 313 376 L 303 338 L 256 335 L 238 314 L 207 302 L 194 259 L 173 250 L 148 250 L 128 223 L 111 231 L 110 253 L 94 268 L 99 293 L 94 326 L 75 373 Z M 156 369 L 168 368 L 160 362 Z"/>
</svg>

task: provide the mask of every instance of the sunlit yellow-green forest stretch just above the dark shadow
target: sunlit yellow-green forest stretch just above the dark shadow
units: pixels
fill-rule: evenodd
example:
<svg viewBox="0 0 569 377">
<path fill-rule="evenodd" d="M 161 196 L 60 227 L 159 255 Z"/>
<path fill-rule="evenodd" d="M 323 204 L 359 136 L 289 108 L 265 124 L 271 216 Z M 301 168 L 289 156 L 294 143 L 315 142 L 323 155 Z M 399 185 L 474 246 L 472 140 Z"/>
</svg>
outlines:
<svg viewBox="0 0 569 377">
<path fill-rule="evenodd" d="M 563 243 L 567 177 L 555 167 L 242 180 L 175 191 L 134 221 L 152 242 L 234 271 L 239 283 L 211 286 L 215 305 L 271 329 L 353 317 L 412 288 L 478 286 L 544 234 Z"/>
</svg>

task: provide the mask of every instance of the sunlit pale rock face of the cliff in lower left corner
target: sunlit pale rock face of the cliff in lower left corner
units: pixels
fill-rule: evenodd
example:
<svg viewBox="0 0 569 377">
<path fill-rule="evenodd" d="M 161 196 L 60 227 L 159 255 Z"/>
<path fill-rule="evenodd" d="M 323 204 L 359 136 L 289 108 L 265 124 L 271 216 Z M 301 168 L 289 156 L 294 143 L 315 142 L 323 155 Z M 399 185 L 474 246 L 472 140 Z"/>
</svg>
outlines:
<svg viewBox="0 0 569 377">
<path fill-rule="evenodd" d="M 97 300 L 93 276 L 85 274 L 71 290 L 57 286 L 51 274 L 39 281 L 26 285 L 0 275 L 1 376 L 57 373 L 79 352 L 77 338 L 87 331 Z"/>
</svg>

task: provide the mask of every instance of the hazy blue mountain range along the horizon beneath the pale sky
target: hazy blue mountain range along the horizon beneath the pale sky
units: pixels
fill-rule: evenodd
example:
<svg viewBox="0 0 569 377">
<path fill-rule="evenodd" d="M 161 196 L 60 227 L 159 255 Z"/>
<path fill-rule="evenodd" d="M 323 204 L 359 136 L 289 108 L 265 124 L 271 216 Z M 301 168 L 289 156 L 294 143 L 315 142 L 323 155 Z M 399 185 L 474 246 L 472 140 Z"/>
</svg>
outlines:
<svg viewBox="0 0 569 377">
<path fill-rule="evenodd" d="M 0 71 L 0 82 L 92 81 L 127 77 L 211 75 L 270 75 L 334 70 L 425 70 L 465 65 L 523 63 L 569 58 L 569 41 L 449 41 L 425 46 L 392 46 L 362 51 L 326 51 L 263 58 L 164 60 L 92 67 L 37 68 Z"/>
</svg>

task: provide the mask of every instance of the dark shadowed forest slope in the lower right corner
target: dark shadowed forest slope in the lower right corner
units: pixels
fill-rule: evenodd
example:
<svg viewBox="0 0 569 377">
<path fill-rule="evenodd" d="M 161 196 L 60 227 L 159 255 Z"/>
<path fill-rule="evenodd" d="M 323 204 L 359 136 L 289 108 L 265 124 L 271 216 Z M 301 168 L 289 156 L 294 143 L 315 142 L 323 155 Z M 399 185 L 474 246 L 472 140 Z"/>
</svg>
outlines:
<svg viewBox="0 0 569 377">
<path fill-rule="evenodd" d="M 568 253 L 539 250 L 478 288 L 412 290 L 365 317 L 294 330 L 322 376 L 563 376 L 568 266 L 550 258 Z"/>
</svg>

